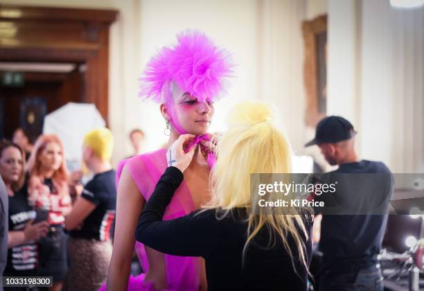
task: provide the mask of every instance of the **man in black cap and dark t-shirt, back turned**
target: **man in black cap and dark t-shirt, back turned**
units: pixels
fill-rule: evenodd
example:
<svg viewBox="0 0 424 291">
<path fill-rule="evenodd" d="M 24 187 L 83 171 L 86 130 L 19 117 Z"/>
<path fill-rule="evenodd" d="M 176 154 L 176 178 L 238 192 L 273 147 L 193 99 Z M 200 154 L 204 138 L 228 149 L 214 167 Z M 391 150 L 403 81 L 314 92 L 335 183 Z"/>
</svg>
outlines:
<svg viewBox="0 0 424 291">
<path fill-rule="evenodd" d="M 385 164 L 360 160 L 355 151 L 353 125 L 340 116 L 322 119 L 305 146 L 318 145 L 331 165 L 339 168 L 330 175 L 383 173 L 391 175 Z M 389 197 L 391 191 L 384 189 Z M 351 195 L 351 193 L 337 193 Z M 358 195 L 359 196 L 359 195 Z M 353 196 L 355 197 L 355 196 Z M 324 195 L 319 200 L 325 200 Z M 388 201 L 388 199 L 387 199 Z M 323 253 L 319 290 L 383 290 L 377 255 L 387 224 L 387 215 L 326 215 L 321 221 L 319 250 Z"/>
</svg>

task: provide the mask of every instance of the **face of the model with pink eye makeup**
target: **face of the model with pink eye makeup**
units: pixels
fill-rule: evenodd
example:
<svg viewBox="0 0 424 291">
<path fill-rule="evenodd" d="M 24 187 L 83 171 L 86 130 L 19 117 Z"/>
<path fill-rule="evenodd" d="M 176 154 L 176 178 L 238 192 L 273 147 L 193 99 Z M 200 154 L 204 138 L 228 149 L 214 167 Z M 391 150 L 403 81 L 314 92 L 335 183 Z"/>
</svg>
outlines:
<svg viewBox="0 0 424 291">
<path fill-rule="evenodd" d="M 170 106 L 171 124 L 180 133 L 206 134 L 213 116 L 211 100 L 200 102 L 188 93 L 176 94 Z"/>
</svg>

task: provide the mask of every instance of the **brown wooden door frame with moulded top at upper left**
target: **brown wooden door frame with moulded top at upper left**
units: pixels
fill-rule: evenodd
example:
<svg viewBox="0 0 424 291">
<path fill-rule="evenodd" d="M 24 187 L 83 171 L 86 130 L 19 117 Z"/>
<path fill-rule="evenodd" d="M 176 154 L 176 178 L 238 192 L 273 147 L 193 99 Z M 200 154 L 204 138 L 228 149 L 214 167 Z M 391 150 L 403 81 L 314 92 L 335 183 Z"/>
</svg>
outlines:
<svg viewBox="0 0 424 291">
<path fill-rule="evenodd" d="M 0 5 L 0 62 L 87 64 L 84 101 L 94 103 L 108 123 L 109 26 L 117 15 L 116 10 Z M 60 26 L 76 31 L 67 37 Z"/>
</svg>

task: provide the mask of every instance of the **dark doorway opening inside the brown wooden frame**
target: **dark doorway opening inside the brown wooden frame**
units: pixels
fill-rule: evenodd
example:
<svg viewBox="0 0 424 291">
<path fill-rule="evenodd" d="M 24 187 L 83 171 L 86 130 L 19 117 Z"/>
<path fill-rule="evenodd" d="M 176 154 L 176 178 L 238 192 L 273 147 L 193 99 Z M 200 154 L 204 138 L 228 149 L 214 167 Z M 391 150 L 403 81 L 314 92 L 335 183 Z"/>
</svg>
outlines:
<svg viewBox="0 0 424 291">
<path fill-rule="evenodd" d="M 4 114 L 0 137 L 10 139 L 13 131 L 21 127 L 33 142 L 42 133 L 48 112 L 69 102 L 84 102 L 85 72 L 81 68 L 79 64 L 0 63 L 1 78 L 12 73 L 19 73 L 22 78 L 19 84 L 1 83 L 0 111 Z"/>
</svg>

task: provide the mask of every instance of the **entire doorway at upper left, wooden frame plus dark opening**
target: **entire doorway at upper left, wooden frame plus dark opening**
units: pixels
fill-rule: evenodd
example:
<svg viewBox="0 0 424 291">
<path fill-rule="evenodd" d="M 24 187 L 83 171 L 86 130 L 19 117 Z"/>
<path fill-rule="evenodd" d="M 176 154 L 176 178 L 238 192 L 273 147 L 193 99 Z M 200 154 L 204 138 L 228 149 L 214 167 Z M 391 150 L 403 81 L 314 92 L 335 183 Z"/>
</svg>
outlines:
<svg viewBox="0 0 424 291">
<path fill-rule="evenodd" d="M 0 66 L 1 137 L 10 138 L 17 127 L 37 136 L 44 115 L 69 102 L 94 103 L 108 120 L 109 26 L 117 14 L 0 5 L 0 64 L 71 67 L 16 71 Z"/>
</svg>

